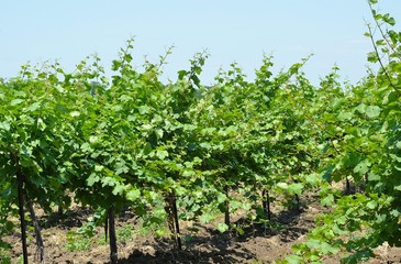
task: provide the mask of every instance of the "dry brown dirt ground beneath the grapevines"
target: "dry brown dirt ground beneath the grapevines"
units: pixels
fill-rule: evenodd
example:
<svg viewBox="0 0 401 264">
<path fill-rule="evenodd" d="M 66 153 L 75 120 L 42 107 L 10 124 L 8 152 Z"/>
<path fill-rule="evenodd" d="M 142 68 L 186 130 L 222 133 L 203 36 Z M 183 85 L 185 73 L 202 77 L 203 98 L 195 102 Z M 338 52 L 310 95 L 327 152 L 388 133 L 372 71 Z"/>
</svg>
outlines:
<svg viewBox="0 0 401 264">
<path fill-rule="evenodd" d="M 220 233 L 213 224 L 200 227 L 199 232 L 190 231 L 189 223 L 182 222 L 182 250 L 177 251 L 168 239 L 155 239 L 135 232 L 138 222 L 134 217 L 119 218 L 116 230 L 133 227 L 124 241 L 119 241 L 119 263 L 275 263 L 291 253 L 291 246 L 301 242 L 314 226 L 315 216 L 324 210 L 318 202 L 302 210 L 274 211 L 272 221 L 281 229 L 264 229 L 257 224 L 244 224 L 240 213 L 232 217 L 232 222 L 244 229 L 243 234 L 234 232 Z M 54 220 L 46 216 L 38 217 L 45 244 L 45 263 L 109 263 L 109 246 L 104 240 L 97 238 L 90 249 L 68 250 L 68 232 L 77 230 L 91 215 L 89 210 L 76 209 L 65 220 Z M 38 211 L 38 216 L 41 212 Z M 129 224 L 129 226 L 127 226 Z M 129 229 L 130 230 L 130 229 Z M 97 228 L 98 237 L 103 230 Z M 30 263 L 38 263 L 33 230 L 29 230 Z M 14 233 L 4 239 L 13 245 L 11 263 L 21 262 L 20 234 Z M 71 241 L 69 241 L 71 242 Z M 338 257 L 330 257 L 324 263 L 339 263 Z M 401 249 L 386 245 L 377 250 L 377 257 L 368 263 L 401 263 Z"/>
</svg>

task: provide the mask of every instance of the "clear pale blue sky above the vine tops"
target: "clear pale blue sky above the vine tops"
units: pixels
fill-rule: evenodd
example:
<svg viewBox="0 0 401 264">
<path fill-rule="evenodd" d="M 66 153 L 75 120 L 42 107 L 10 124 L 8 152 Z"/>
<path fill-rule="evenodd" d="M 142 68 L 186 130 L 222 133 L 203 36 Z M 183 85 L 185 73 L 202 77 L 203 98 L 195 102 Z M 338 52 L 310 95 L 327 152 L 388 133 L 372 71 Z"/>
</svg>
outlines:
<svg viewBox="0 0 401 264">
<path fill-rule="evenodd" d="M 381 0 L 379 7 L 401 24 L 401 1 Z M 97 53 L 107 70 L 120 47 L 135 36 L 134 62 L 157 62 L 168 46 L 174 52 L 164 67 L 172 80 L 189 59 L 208 48 L 201 76 L 213 82 L 219 68 L 236 62 L 249 77 L 263 54 L 272 54 L 275 70 L 310 54 L 307 77 L 318 84 L 334 64 L 356 82 L 366 73 L 371 22 L 366 0 L 1 0 L 0 76 L 18 75 L 26 62 L 58 59 L 73 70 Z M 400 29 L 400 25 L 397 25 Z"/>
</svg>

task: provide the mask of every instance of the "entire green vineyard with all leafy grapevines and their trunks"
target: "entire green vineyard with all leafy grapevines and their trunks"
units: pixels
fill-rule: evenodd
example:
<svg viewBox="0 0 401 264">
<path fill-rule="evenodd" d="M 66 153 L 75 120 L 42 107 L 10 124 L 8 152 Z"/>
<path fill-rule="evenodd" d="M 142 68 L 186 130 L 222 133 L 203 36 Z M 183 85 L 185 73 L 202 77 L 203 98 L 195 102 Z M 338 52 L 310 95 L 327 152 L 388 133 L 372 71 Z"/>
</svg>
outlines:
<svg viewBox="0 0 401 264">
<path fill-rule="evenodd" d="M 138 70 L 134 40 L 110 78 L 98 56 L 73 73 L 25 65 L 0 78 L 0 263 L 16 260 L 10 235 L 20 238 L 20 262 L 34 243 L 34 262 L 53 263 L 43 216 L 62 223 L 71 210 L 90 219 L 71 241 L 104 228 L 104 263 L 119 262 L 121 219 L 185 254 L 182 223 L 221 238 L 248 227 L 280 232 L 277 208 L 312 204 L 322 208 L 312 231 L 277 263 L 358 263 L 383 244 L 401 246 L 401 33 L 369 4 L 372 68 L 356 85 L 334 67 L 313 86 L 302 72 L 309 57 L 274 75 L 265 56 L 253 81 L 232 64 L 204 86 L 207 53 L 164 84 L 171 50 Z"/>
</svg>

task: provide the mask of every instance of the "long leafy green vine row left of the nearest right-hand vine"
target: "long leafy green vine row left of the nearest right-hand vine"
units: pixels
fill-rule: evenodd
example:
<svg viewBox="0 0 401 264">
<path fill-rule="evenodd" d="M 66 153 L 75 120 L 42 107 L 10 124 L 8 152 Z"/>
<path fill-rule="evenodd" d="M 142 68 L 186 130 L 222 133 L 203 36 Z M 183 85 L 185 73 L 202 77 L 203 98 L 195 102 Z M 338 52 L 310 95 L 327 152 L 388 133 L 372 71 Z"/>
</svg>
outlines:
<svg viewBox="0 0 401 264">
<path fill-rule="evenodd" d="M 161 234 L 167 216 L 160 205 L 168 206 L 169 195 L 178 199 L 180 219 L 209 222 L 221 212 L 250 212 L 260 190 L 290 204 L 315 187 L 308 177 L 314 140 L 303 118 L 315 92 L 302 64 L 274 77 L 265 57 L 255 82 L 232 64 L 207 88 L 199 75 L 208 55 L 201 53 L 176 82 L 163 85 L 159 69 L 169 51 L 140 73 L 132 48 L 129 40 L 113 61 L 111 84 L 96 56 L 74 74 L 57 64 L 44 72 L 24 66 L 20 77 L 2 82 L 4 201 L 16 202 L 15 172 L 22 169 L 29 196 L 45 209 L 68 206 L 68 194 L 103 210 L 130 205 Z M 88 223 L 70 233 L 70 248 L 87 249 L 92 232 Z"/>
</svg>

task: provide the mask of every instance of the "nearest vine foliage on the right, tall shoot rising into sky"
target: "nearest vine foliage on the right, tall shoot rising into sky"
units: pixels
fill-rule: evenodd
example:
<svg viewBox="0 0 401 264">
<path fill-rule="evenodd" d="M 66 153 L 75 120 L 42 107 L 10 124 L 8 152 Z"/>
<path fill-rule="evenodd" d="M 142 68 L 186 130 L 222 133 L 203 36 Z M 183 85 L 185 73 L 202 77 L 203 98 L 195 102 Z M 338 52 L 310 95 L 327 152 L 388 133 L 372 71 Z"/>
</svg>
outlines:
<svg viewBox="0 0 401 264">
<path fill-rule="evenodd" d="M 382 30 L 385 24 L 393 26 L 394 20 L 378 13 L 374 9 L 376 3 L 370 1 L 370 7 L 381 38 L 374 41 L 371 28 L 366 35 L 375 47 L 368 61 L 379 63 L 379 72 L 348 90 L 339 90 L 328 76 L 321 91 L 332 103 L 322 100 L 316 113 L 323 114 L 316 114 L 313 121 L 323 130 L 323 178 L 352 179 L 361 186 L 363 194 L 333 196 L 323 191 L 322 204 L 332 206 L 333 211 L 316 220 L 318 228 L 305 243 L 294 246 L 297 255 L 287 262 L 316 261 L 343 251 L 343 262 L 357 263 L 374 256 L 374 249 L 385 242 L 401 245 L 398 169 L 401 47 L 394 31 Z M 383 55 L 388 62 L 382 61 Z"/>
</svg>

